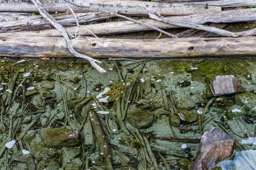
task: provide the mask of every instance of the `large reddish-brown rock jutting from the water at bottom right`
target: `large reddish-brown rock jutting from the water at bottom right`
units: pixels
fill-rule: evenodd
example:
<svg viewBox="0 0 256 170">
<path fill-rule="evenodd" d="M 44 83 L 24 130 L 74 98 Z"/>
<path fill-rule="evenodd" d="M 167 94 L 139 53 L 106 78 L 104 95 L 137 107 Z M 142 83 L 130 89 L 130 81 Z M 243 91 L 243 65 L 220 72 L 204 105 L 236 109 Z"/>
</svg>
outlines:
<svg viewBox="0 0 256 170">
<path fill-rule="evenodd" d="M 209 127 L 203 134 L 198 154 L 190 170 L 209 170 L 216 163 L 232 156 L 235 139 L 217 127 Z"/>
</svg>

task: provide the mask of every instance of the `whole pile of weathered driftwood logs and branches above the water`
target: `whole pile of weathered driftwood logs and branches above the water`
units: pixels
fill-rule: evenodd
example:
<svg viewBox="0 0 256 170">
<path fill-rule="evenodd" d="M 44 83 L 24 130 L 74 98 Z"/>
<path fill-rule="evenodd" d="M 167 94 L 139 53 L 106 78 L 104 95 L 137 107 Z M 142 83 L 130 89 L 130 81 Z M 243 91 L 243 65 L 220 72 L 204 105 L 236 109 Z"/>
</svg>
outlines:
<svg viewBox="0 0 256 170">
<path fill-rule="evenodd" d="M 0 55 L 81 57 L 192 57 L 255 55 L 256 28 L 230 32 L 226 23 L 256 20 L 256 0 L 0 0 Z M 233 7 L 232 10 L 223 8 Z M 41 15 L 32 15 L 40 13 Z M 134 20 L 127 16 L 149 16 Z M 126 21 L 82 25 L 110 17 Z M 208 23 L 208 24 L 206 24 Z M 211 23 L 211 24 L 209 24 Z M 55 28 L 55 29 L 54 29 Z M 179 34 L 164 29 L 190 28 Z M 156 30 L 170 38 L 102 39 L 97 35 Z M 203 30 L 200 37 L 178 38 Z M 209 38 L 209 33 L 219 37 Z M 91 36 L 93 37 L 86 37 Z M 90 57 L 88 57 L 90 56 Z"/>
</svg>

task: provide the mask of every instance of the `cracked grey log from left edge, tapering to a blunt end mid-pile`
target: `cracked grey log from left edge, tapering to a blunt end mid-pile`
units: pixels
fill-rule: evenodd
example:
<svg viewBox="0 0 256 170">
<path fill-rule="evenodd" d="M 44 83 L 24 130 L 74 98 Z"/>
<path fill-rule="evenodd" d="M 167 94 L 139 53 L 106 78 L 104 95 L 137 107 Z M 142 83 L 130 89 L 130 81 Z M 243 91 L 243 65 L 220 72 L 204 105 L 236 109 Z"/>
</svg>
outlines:
<svg viewBox="0 0 256 170">
<path fill-rule="evenodd" d="M 63 26 L 76 26 L 76 20 L 71 12 L 52 15 Z M 76 13 L 79 23 L 105 20 L 111 17 L 105 13 Z M 28 13 L 0 12 L 0 33 L 8 31 L 44 30 L 54 28 L 42 16 L 32 16 Z"/>
</svg>

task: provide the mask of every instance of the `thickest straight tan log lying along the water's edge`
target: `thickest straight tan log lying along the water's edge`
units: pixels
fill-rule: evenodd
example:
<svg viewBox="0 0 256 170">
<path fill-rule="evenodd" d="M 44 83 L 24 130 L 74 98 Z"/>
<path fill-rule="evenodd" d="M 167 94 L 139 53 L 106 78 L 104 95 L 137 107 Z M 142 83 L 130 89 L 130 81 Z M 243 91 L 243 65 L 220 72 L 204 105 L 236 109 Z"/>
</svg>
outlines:
<svg viewBox="0 0 256 170">
<path fill-rule="evenodd" d="M 256 55 L 256 37 L 174 38 L 158 40 L 76 37 L 75 50 L 90 57 L 194 57 Z M 62 37 L 0 38 L 0 56 L 70 57 Z"/>
</svg>

